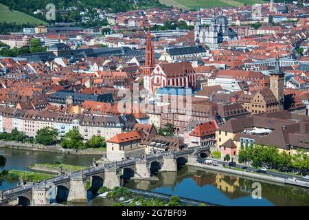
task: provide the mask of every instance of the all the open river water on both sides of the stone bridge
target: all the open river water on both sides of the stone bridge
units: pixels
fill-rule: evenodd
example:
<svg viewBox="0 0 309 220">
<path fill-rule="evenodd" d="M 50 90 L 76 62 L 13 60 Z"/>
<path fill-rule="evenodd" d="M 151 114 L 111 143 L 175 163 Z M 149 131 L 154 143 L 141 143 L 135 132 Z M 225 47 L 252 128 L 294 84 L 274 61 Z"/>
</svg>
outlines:
<svg viewBox="0 0 309 220">
<path fill-rule="evenodd" d="M 30 170 L 28 166 L 36 163 L 55 161 L 63 164 L 89 166 L 93 155 L 67 155 L 59 153 L 25 151 L 0 148 L 0 154 L 7 158 L 5 169 Z M 179 195 L 223 206 L 309 206 L 309 190 L 297 186 L 269 183 L 260 180 L 237 177 L 212 170 L 203 170 L 192 166 L 183 166 L 177 172 L 158 173 L 159 181 L 126 181 L 124 186 L 152 190 L 169 195 Z M 5 181 L 0 190 L 16 186 L 16 181 Z M 257 185 L 261 186 L 262 198 L 254 199 Z M 110 206 L 113 201 L 102 197 L 94 199 L 89 193 L 89 203 L 69 205 Z"/>
</svg>

